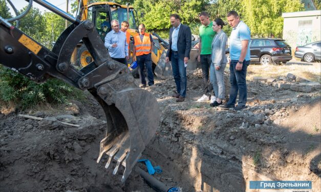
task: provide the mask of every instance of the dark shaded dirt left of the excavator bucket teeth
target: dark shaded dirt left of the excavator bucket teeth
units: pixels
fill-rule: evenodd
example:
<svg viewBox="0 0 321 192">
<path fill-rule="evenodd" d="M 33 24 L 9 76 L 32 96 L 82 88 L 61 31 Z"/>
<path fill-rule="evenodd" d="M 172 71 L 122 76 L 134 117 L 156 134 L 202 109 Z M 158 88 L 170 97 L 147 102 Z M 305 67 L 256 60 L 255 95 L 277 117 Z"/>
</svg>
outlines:
<svg viewBox="0 0 321 192">
<path fill-rule="evenodd" d="M 2 115 L 0 123 L 1 191 L 133 191 L 149 188 L 133 173 L 121 184 L 123 169 L 104 168 L 104 157 L 96 163 L 105 122 L 91 115 L 50 116 L 41 121 Z M 48 118 L 48 116 L 50 116 Z M 59 124 L 80 125 L 79 128 Z M 144 191 L 144 190 L 142 190 Z M 146 190 L 148 191 L 148 190 Z"/>
</svg>

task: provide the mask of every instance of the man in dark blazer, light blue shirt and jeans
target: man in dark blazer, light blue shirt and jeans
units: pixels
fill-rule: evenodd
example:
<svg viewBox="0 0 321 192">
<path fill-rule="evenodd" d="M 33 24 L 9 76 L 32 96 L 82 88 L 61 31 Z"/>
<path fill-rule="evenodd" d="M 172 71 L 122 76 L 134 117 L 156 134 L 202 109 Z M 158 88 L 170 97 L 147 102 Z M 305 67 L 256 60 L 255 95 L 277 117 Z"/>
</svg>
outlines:
<svg viewBox="0 0 321 192">
<path fill-rule="evenodd" d="M 180 17 L 172 14 L 169 17 L 172 28 L 169 30 L 169 47 L 166 53 L 166 63 L 172 61 L 173 76 L 177 93 L 173 97 L 176 102 L 183 102 L 186 97 L 186 66 L 191 49 L 191 32 L 188 26 L 181 24 Z"/>
</svg>

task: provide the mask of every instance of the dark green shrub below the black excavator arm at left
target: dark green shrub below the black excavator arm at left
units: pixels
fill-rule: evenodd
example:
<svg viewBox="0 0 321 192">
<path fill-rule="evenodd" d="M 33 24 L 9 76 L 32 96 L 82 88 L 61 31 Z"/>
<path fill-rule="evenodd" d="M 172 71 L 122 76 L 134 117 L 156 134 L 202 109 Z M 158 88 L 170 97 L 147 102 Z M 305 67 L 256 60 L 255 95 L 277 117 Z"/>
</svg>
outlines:
<svg viewBox="0 0 321 192">
<path fill-rule="evenodd" d="M 37 84 L 29 78 L 0 66 L 0 101 L 15 102 L 26 109 L 40 103 L 62 104 L 70 98 L 81 98 L 82 91 L 58 79 Z"/>
</svg>

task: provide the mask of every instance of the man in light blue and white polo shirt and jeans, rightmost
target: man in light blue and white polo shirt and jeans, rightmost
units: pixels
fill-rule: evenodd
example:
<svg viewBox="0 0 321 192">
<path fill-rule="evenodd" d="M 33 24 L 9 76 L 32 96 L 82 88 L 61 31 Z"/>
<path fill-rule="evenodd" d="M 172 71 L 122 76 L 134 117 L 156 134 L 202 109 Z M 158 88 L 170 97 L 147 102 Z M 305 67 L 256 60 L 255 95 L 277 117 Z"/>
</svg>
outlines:
<svg viewBox="0 0 321 192">
<path fill-rule="evenodd" d="M 247 87 L 246 87 L 246 71 L 250 64 L 250 46 L 251 31 L 247 25 L 240 20 L 236 11 L 227 13 L 229 25 L 233 28 L 230 35 L 229 53 L 230 61 L 230 83 L 231 89 L 229 100 L 222 109 L 234 108 L 234 110 L 242 110 L 246 108 Z M 238 105 L 234 107 L 239 92 Z"/>
</svg>

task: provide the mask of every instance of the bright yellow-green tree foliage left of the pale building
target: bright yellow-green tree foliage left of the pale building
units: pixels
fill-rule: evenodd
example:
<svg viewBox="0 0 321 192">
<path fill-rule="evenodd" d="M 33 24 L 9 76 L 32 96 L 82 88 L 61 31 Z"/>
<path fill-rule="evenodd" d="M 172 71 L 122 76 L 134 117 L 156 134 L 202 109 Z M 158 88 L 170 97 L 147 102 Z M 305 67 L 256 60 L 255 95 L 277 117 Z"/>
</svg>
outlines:
<svg viewBox="0 0 321 192">
<path fill-rule="evenodd" d="M 221 17 L 226 21 L 226 14 L 237 11 L 251 30 L 251 36 L 282 37 L 283 18 L 282 13 L 302 11 L 303 4 L 300 0 L 218 0 L 216 4 L 210 5 L 207 10 L 212 18 Z M 225 27 L 224 31 L 230 33 L 231 28 Z"/>
</svg>

